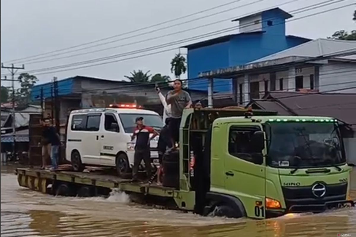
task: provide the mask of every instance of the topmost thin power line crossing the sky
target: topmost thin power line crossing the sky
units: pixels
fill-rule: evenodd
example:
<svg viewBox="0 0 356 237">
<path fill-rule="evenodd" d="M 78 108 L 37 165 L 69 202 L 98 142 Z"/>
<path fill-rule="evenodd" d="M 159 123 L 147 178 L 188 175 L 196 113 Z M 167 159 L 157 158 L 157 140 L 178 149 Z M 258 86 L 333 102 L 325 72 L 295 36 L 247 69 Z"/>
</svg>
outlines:
<svg viewBox="0 0 356 237">
<path fill-rule="evenodd" d="M 126 34 L 135 33 L 135 32 L 137 32 L 137 31 L 142 31 L 142 30 L 144 30 L 144 29 L 148 29 L 148 28 L 160 26 L 160 25 L 163 25 L 163 24 L 166 24 L 166 23 L 169 23 L 169 22 L 181 20 L 181 19 L 184 19 L 184 18 L 187 18 L 187 17 L 190 17 L 190 16 L 194 16 L 194 15 L 196 15 L 196 14 L 200 14 L 200 13 L 203 13 L 203 12 L 207 12 L 207 11 L 210 11 L 210 10 L 214 10 L 214 9 L 217 9 L 217 8 L 220 8 L 220 7 L 223 7 L 223 6 L 227 6 L 227 5 L 233 4 L 233 3 L 235 3 L 235 2 L 239 2 L 239 1 L 241 1 L 241 0 L 234 0 L 234 1 L 231 1 L 231 2 L 227 2 L 227 3 L 225 3 L 225 4 L 221 4 L 221 5 L 218 5 L 218 6 L 215 6 L 215 7 L 211 7 L 211 8 L 209 8 L 209 9 L 201 10 L 201 11 L 198 11 L 198 12 L 194 12 L 194 13 L 192 13 L 192 14 L 188 14 L 188 15 L 185 15 L 185 16 L 182 16 L 182 17 L 177 17 L 177 18 L 174 18 L 174 19 L 171 19 L 171 20 L 168 20 L 168 21 L 164 21 L 164 22 L 159 22 L 159 23 L 156 23 L 156 24 L 154 24 L 154 25 L 150 25 L 150 26 L 138 28 L 138 29 L 135 29 L 135 30 L 132 30 L 132 31 L 128 31 L 128 32 L 116 34 L 116 35 L 114 35 L 114 36 L 110 36 L 110 37 L 106 37 L 106 38 L 102 38 L 102 39 L 97 39 L 97 40 L 95 40 L 95 41 L 90 41 L 90 42 L 87 42 L 87 43 L 77 44 L 77 45 L 74 45 L 74 46 L 71 46 L 71 47 L 67 47 L 67 48 L 62 48 L 62 49 L 53 50 L 53 51 L 50 51 L 50 52 L 47 52 L 47 53 L 41 53 L 41 54 L 37 54 L 37 55 L 27 56 L 27 57 L 24 57 L 24 58 L 14 59 L 14 60 L 11 60 L 11 61 L 17 61 L 17 60 L 22 60 L 22 59 L 27 59 L 27 58 L 33 58 L 33 57 L 36 57 L 36 56 L 41 56 L 41 55 L 45 55 L 45 54 L 55 53 L 55 52 L 59 52 L 59 51 L 67 50 L 67 49 L 77 48 L 77 47 L 80 47 L 80 46 L 84 46 L 84 45 L 88 45 L 88 44 L 92 44 L 92 43 L 97 43 L 97 42 L 105 41 L 105 40 L 107 40 L 107 39 L 116 38 L 116 37 L 123 36 L 123 35 L 126 35 Z M 8 62 L 11 62 L 11 61 L 8 61 Z"/>
</svg>

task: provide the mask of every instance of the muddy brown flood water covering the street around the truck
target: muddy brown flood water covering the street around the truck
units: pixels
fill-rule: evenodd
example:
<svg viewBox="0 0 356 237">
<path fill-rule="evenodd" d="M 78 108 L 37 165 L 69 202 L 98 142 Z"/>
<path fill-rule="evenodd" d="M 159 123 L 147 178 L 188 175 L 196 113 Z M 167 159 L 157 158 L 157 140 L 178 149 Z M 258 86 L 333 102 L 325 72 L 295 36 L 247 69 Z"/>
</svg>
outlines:
<svg viewBox="0 0 356 237">
<path fill-rule="evenodd" d="M 351 196 L 356 199 L 356 168 Z M 202 217 L 130 202 L 113 192 L 108 199 L 54 197 L 22 188 L 14 167 L 1 167 L 1 237 L 14 236 L 356 236 L 356 208 L 268 220 Z"/>
</svg>

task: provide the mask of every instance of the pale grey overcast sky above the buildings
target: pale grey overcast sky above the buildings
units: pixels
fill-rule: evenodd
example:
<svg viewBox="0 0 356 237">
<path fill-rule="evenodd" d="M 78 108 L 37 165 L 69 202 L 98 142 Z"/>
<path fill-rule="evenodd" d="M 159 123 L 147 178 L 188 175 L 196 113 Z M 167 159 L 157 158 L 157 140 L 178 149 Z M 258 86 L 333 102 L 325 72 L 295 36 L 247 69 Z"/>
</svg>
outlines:
<svg viewBox="0 0 356 237">
<path fill-rule="evenodd" d="M 153 29 L 170 26 L 197 17 L 211 15 L 218 11 L 232 9 L 234 7 L 246 5 L 254 1 L 256 0 L 240 0 L 233 4 L 226 5 L 224 7 L 220 7 L 208 12 L 195 14 L 194 16 L 190 16 L 182 20 L 169 22 L 161 26 L 149 28 L 143 31 L 138 31 L 136 33 L 125 34 L 119 37 L 115 37 L 110 39 L 110 41 L 129 37 L 133 34 L 152 31 Z M 223 20 L 225 18 L 228 19 L 233 17 L 240 17 L 250 12 L 263 10 L 267 7 L 283 4 L 287 1 L 288 0 L 260 0 L 255 4 L 251 4 L 245 7 L 239 7 L 235 10 L 203 18 L 201 20 L 193 21 L 184 25 L 163 29 L 143 36 L 132 37 L 130 39 L 124 39 L 114 43 L 85 49 L 78 52 L 38 59 L 37 61 L 51 60 L 53 58 L 64 57 L 72 54 L 99 50 L 107 47 L 114 47 L 116 45 L 122 45 L 136 41 L 143 41 L 141 43 L 127 45 L 124 47 L 119 47 L 110 50 L 104 50 L 102 52 L 96 52 L 59 60 L 45 61 L 36 64 L 30 64 L 34 62 L 33 59 L 36 57 L 24 59 L 21 61 L 25 61 L 24 64 L 26 70 L 34 70 L 57 65 L 75 63 L 78 61 L 90 60 L 104 56 L 110 56 L 113 54 L 130 52 L 132 50 L 152 47 L 158 44 L 177 41 L 180 39 L 197 36 L 200 34 L 216 31 L 227 27 L 233 27 L 238 23 L 226 20 L 224 22 L 208 27 L 201 27 L 193 31 L 187 31 L 168 37 L 160 37 L 155 40 L 145 41 L 145 39 L 148 38 L 163 36 L 164 34 L 182 31 L 184 29 L 192 27 L 198 27 L 210 22 Z M 289 4 L 281 5 L 281 8 L 285 11 L 292 11 L 303 6 L 324 1 L 325 0 L 295 0 L 294 2 L 291 2 Z M 340 0 L 333 1 L 337 2 Z M 211 7 L 228 2 L 232 2 L 232 0 L 1 0 L 1 61 L 7 62 L 14 59 L 46 53 L 49 51 L 67 48 L 73 45 L 87 43 L 105 37 L 122 34 L 142 27 L 154 25 L 163 21 L 168 21 L 173 18 L 193 14 L 194 12 L 209 9 Z M 294 18 L 299 18 L 304 15 L 309 15 L 315 12 L 347 5 L 352 2 L 355 2 L 355 0 L 340 1 L 333 5 L 295 14 Z M 297 36 L 315 39 L 326 38 L 339 29 L 351 31 L 352 29 L 356 28 L 355 22 L 352 21 L 352 15 L 354 10 L 355 5 L 352 5 L 343 9 L 327 12 L 325 14 L 291 21 L 286 24 L 286 32 L 287 34 L 293 34 Z M 223 34 L 231 33 L 238 33 L 238 30 L 235 29 L 234 31 Z M 217 36 L 219 35 L 210 36 L 209 38 L 215 38 Z M 202 41 L 205 39 L 208 38 L 185 42 L 158 50 L 175 48 L 178 46 Z M 98 43 L 104 42 L 107 41 L 101 41 Z M 94 44 L 85 45 L 83 47 L 88 47 L 90 45 Z M 71 50 L 75 49 L 79 48 L 73 48 Z M 116 60 L 152 53 L 158 50 L 153 50 L 141 54 L 132 54 L 130 56 L 117 58 Z M 58 54 L 61 52 L 53 54 Z M 37 75 L 38 73 L 34 74 L 37 75 L 38 79 L 40 79 L 40 83 L 51 81 L 53 76 L 57 76 L 58 79 L 63 79 L 75 75 L 85 75 L 105 79 L 122 80 L 124 79 L 124 75 L 128 75 L 130 71 L 138 69 L 144 71 L 151 70 L 152 74 L 161 73 L 173 77 L 170 72 L 170 61 L 175 53 L 178 53 L 178 49 L 141 58 L 110 63 L 101 66 L 94 66 L 90 68 L 56 72 L 46 75 Z M 40 56 L 37 56 L 37 58 L 38 57 Z M 7 63 L 5 63 L 5 65 L 7 65 Z M 5 71 L 4 69 L 2 69 L 1 72 L 2 74 L 7 73 L 7 71 Z M 2 85 L 7 84 L 2 83 Z"/>
</svg>

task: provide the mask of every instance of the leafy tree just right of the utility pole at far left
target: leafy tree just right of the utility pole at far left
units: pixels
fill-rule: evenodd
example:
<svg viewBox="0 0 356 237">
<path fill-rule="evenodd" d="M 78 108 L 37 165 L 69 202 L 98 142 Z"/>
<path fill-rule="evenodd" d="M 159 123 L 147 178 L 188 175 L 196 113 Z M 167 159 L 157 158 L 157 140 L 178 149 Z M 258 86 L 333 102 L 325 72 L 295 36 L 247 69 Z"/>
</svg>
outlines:
<svg viewBox="0 0 356 237">
<path fill-rule="evenodd" d="M 19 104 L 26 105 L 31 101 L 31 90 L 38 79 L 27 72 L 21 73 L 17 79 L 20 81 L 20 88 L 15 91 L 15 99 Z"/>
</svg>

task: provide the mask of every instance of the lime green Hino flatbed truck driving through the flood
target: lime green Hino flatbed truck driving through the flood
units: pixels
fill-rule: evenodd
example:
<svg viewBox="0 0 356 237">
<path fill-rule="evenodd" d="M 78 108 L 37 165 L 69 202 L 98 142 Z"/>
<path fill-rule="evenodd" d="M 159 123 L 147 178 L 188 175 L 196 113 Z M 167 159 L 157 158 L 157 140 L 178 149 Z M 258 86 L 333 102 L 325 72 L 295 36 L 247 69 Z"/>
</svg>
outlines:
<svg viewBox="0 0 356 237">
<path fill-rule="evenodd" d="M 79 193 L 73 189 L 94 188 L 99 194 L 116 187 L 174 200 L 178 209 L 208 216 L 264 219 L 354 206 L 351 167 L 334 118 L 277 116 L 244 108 L 185 109 L 179 144 L 179 151 L 173 151 L 177 172 L 169 174 L 177 175 L 177 183 L 171 187 L 28 168 L 17 169 L 18 180 L 47 193 L 51 183 L 57 194 L 66 187 L 73 195 Z"/>
</svg>

